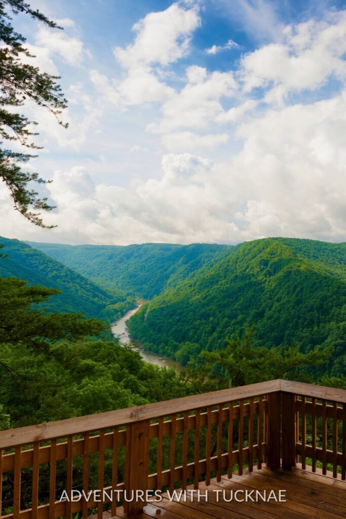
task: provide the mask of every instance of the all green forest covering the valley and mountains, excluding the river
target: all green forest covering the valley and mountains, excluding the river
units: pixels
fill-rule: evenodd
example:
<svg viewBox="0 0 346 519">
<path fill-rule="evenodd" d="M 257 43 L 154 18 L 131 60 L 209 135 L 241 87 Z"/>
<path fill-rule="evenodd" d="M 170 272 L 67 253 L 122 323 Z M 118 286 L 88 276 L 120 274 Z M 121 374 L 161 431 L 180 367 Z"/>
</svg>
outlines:
<svg viewBox="0 0 346 519">
<path fill-rule="evenodd" d="M 68 265 L 0 244 L 2 428 L 270 378 L 346 387 L 346 244 L 40 245 Z M 150 295 L 131 334 L 185 364 L 181 376 L 110 334 Z"/>
</svg>

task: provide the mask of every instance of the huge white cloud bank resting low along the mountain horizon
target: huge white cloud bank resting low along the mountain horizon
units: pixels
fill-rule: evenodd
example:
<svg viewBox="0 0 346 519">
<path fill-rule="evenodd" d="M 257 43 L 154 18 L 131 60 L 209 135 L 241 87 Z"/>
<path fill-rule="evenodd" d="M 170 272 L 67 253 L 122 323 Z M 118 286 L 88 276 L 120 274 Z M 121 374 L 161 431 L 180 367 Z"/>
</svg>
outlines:
<svg viewBox="0 0 346 519">
<path fill-rule="evenodd" d="M 168 154 L 160 179 L 130 187 L 57 171 L 49 239 L 67 242 L 240 242 L 265 236 L 340 241 L 346 211 L 346 91 L 311 105 L 270 110 L 243 123 L 229 163 Z M 1 196 L 1 193 L 0 193 Z M 6 204 L 0 223 L 8 217 Z M 39 229 L 31 231 L 43 239 Z M 18 231 L 17 231 L 18 236 Z M 22 238 L 27 239 L 26 231 Z"/>
</svg>

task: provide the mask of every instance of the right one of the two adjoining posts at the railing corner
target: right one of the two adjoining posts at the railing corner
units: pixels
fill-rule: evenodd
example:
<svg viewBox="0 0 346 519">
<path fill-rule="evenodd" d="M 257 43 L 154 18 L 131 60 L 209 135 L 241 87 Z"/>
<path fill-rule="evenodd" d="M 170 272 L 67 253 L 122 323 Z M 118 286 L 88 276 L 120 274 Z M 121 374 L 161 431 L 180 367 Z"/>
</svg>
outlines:
<svg viewBox="0 0 346 519">
<path fill-rule="evenodd" d="M 296 466 L 296 412 L 295 394 L 281 393 L 281 445 L 282 468 L 291 470 Z"/>
</svg>

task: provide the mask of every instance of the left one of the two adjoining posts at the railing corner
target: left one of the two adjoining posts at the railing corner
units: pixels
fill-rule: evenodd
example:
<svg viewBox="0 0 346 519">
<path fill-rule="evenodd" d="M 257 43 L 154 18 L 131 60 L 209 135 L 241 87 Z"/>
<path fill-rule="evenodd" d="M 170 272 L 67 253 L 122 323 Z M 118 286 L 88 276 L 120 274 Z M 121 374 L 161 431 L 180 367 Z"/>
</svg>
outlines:
<svg viewBox="0 0 346 519">
<path fill-rule="evenodd" d="M 280 468 L 281 454 L 281 393 L 270 393 L 268 399 L 267 465 Z"/>
</svg>

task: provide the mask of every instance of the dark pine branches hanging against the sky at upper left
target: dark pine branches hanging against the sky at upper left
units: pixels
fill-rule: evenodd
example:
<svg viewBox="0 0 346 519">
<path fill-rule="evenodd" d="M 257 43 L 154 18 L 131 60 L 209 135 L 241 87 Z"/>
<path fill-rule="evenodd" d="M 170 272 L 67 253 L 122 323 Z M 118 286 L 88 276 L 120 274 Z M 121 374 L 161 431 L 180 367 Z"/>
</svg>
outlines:
<svg viewBox="0 0 346 519">
<path fill-rule="evenodd" d="M 52 29 L 61 28 L 38 10 L 31 9 L 23 0 L 4 0 L 0 3 L 0 138 L 8 143 L 17 141 L 22 146 L 37 149 L 38 146 L 31 142 L 31 137 L 37 135 L 31 126 L 36 126 L 37 122 L 30 121 L 16 110 L 23 106 L 25 100 L 30 100 L 47 108 L 60 125 L 67 127 L 59 119 L 66 107 L 66 99 L 56 83 L 58 76 L 40 72 L 38 67 L 24 63 L 23 58 L 35 56 L 24 47 L 25 38 L 13 29 L 8 11 L 12 15 L 24 12 Z M 35 155 L 0 148 L 0 179 L 8 187 L 14 207 L 30 222 L 46 227 L 39 211 L 49 211 L 52 207 L 47 203 L 47 198 L 40 198 L 29 187 L 30 182 L 43 184 L 46 181 L 40 179 L 37 172 L 22 169 L 22 165 L 32 157 Z"/>
</svg>

